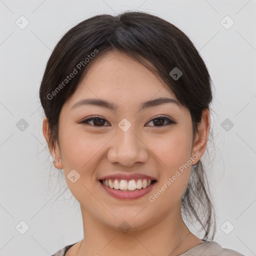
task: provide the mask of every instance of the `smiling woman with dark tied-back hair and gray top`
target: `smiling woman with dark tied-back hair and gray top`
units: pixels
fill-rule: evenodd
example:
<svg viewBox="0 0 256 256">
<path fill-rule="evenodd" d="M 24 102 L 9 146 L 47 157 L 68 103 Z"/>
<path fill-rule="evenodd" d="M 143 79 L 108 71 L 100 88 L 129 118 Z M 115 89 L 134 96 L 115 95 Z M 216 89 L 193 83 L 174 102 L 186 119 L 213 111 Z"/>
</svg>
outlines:
<svg viewBox="0 0 256 256">
<path fill-rule="evenodd" d="M 144 12 L 96 15 L 55 46 L 43 134 L 84 237 L 54 256 L 242 255 L 212 241 L 204 154 L 211 80 L 189 38 Z M 184 217 L 204 231 L 199 238 Z"/>
</svg>

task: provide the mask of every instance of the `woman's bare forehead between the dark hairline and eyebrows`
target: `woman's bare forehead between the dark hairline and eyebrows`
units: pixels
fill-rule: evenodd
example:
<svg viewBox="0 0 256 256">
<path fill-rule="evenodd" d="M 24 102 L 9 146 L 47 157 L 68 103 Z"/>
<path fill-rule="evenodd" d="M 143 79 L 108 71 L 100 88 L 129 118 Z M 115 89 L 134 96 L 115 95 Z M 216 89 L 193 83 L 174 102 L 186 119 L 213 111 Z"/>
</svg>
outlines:
<svg viewBox="0 0 256 256">
<path fill-rule="evenodd" d="M 145 60 L 145 59 L 143 59 Z M 148 60 L 147 64 L 152 66 Z M 171 97 L 166 84 L 137 60 L 118 50 L 98 56 L 70 98 L 70 104 L 82 98 L 106 99 L 116 104 L 134 104 L 156 97 Z"/>
</svg>

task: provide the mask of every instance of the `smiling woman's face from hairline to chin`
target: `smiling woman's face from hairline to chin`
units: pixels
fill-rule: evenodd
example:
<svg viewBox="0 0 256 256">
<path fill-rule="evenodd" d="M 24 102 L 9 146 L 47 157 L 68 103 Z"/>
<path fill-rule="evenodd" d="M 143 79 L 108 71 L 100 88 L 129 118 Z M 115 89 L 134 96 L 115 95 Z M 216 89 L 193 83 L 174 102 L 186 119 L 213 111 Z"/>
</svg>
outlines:
<svg viewBox="0 0 256 256">
<path fill-rule="evenodd" d="M 161 97 L 170 100 L 143 104 Z M 115 229 L 126 221 L 136 230 L 179 213 L 191 164 L 204 151 L 196 138 L 192 147 L 189 110 L 166 85 L 137 61 L 111 50 L 95 60 L 63 105 L 55 156 L 88 218 Z M 137 190 L 107 187 L 101 183 L 110 185 L 107 176 L 115 188 Z M 149 179 L 152 183 L 143 188 Z"/>
</svg>

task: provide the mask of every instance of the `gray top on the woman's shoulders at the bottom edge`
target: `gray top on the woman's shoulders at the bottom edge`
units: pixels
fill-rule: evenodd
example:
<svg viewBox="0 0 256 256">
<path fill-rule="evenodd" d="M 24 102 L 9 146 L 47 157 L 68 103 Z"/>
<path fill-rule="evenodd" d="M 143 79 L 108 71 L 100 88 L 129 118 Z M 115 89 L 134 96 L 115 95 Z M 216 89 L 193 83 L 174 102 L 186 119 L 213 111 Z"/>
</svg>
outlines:
<svg viewBox="0 0 256 256">
<path fill-rule="evenodd" d="M 75 243 L 65 246 L 58 250 L 51 256 L 64 256 L 66 251 L 72 247 Z M 222 248 L 217 242 L 205 241 L 192 247 L 189 250 L 177 255 L 177 256 L 244 256 L 243 254 L 231 250 Z"/>
</svg>

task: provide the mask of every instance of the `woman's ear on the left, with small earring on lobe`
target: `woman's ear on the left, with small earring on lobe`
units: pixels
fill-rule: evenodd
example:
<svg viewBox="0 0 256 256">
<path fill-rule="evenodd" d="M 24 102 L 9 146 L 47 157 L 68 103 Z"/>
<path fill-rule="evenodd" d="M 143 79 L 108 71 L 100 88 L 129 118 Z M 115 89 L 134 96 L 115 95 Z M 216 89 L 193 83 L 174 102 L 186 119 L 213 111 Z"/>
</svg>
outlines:
<svg viewBox="0 0 256 256">
<path fill-rule="evenodd" d="M 57 169 L 63 169 L 63 165 L 62 165 L 61 159 L 60 159 L 60 150 L 59 150 L 58 144 L 57 143 L 55 144 L 55 150 L 53 150 L 53 148 L 50 144 L 50 141 L 49 141 L 50 133 L 49 133 L 49 122 L 48 122 L 47 117 L 43 118 L 42 133 L 43 133 L 45 140 L 47 141 L 50 154 L 52 155 L 52 158 L 54 159 L 54 162 L 53 162 L 54 166 Z"/>
</svg>

